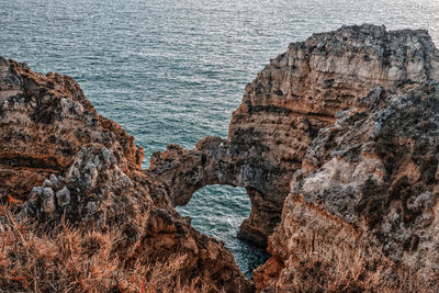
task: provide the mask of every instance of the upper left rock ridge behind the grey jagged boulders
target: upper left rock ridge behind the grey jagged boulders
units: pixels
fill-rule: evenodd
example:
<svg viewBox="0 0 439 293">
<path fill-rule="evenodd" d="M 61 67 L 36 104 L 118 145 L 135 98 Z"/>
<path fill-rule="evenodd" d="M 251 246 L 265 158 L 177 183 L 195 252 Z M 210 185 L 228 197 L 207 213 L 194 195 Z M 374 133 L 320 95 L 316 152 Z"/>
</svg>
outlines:
<svg viewBox="0 0 439 293">
<path fill-rule="evenodd" d="M 100 142 L 139 167 L 143 149 L 116 123 L 99 116 L 76 81 L 33 72 L 0 58 L 0 192 L 26 199 L 50 176 L 64 173 L 82 146 Z M 25 179 L 25 180 L 23 180 Z"/>
</svg>

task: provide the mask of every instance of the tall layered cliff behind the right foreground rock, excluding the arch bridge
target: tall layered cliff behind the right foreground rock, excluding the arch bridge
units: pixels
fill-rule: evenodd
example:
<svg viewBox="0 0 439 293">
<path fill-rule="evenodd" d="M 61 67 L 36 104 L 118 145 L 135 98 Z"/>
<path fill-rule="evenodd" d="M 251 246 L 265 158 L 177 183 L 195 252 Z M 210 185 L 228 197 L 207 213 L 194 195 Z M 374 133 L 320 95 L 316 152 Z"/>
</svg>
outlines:
<svg viewBox="0 0 439 293">
<path fill-rule="evenodd" d="M 266 179 L 256 196 L 249 193 L 258 204 L 243 233 L 251 235 L 260 222 L 270 223 L 254 222 L 258 214 L 281 214 L 292 174 L 318 131 L 333 125 L 338 111 L 358 105 L 378 86 L 402 91 L 438 78 L 439 56 L 425 31 L 349 26 L 291 44 L 247 86 L 229 125 L 238 157 L 258 161 L 257 170 Z M 250 153 L 254 147 L 259 150 Z"/>
</svg>

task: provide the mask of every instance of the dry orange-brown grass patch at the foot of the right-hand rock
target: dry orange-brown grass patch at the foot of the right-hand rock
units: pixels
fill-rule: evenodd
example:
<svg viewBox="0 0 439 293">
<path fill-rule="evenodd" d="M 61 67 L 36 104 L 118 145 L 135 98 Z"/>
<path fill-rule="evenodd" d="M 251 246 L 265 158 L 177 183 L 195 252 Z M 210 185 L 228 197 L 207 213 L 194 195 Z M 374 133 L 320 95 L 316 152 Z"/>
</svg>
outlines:
<svg viewBox="0 0 439 293">
<path fill-rule="evenodd" d="M 290 261 L 277 292 L 432 292 L 424 273 L 396 266 L 364 243 L 320 245 Z"/>
</svg>

